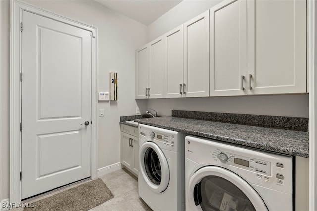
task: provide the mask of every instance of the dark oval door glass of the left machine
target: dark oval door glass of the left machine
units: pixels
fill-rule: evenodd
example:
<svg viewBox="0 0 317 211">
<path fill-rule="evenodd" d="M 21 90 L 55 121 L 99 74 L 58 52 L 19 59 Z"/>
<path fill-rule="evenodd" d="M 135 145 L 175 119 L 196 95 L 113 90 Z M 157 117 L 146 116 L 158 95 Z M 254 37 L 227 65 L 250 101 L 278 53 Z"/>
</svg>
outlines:
<svg viewBox="0 0 317 211">
<path fill-rule="evenodd" d="M 158 154 L 152 148 L 148 148 L 145 151 L 144 167 L 151 182 L 159 185 L 162 180 L 162 169 L 160 166 Z"/>
</svg>

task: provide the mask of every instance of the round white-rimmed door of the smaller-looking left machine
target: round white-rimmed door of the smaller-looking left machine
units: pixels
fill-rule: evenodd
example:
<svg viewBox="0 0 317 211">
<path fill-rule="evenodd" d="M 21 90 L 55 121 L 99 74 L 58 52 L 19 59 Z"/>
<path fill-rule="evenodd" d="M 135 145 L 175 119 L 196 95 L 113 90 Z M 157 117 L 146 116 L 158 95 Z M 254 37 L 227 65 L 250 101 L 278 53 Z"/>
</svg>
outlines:
<svg viewBox="0 0 317 211">
<path fill-rule="evenodd" d="M 139 171 L 148 187 L 155 193 L 166 190 L 169 183 L 169 168 L 161 148 L 154 142 L 144 142 L 139 150 Z"/>
</svg>

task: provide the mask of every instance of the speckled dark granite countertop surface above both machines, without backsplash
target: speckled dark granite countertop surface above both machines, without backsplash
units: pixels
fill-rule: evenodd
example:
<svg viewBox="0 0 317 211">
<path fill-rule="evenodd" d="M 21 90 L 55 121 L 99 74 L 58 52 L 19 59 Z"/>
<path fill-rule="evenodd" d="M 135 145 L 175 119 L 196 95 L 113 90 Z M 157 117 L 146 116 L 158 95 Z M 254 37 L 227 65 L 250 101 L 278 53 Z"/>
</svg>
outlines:
<svg viewBox="0 0 317 211">
<path fill-rule="evenodd" d="M 163 116 L 137 119 L 141 124 L 220 141 L 308 158 L 307 132 Z"/>
</svg>

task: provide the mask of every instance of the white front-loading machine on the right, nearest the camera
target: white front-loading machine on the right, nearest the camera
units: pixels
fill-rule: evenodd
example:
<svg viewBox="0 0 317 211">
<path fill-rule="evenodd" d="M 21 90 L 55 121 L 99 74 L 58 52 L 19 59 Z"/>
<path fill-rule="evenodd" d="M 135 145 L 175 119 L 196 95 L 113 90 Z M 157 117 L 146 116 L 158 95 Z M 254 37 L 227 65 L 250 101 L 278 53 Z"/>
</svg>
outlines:
<svg viewBox="0 0 317 211">
<path fill-rule="evenodd" d="M 292 156 L 186 136 L 186 210 L 292 211 Z"/>
</svg>

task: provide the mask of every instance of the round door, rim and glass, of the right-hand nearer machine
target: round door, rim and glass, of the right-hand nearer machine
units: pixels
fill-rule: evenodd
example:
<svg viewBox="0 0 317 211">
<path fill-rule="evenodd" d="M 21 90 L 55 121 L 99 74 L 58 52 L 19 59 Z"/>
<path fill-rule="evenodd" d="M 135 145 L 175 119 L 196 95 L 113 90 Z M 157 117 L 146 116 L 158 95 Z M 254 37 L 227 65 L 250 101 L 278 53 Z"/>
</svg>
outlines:
<svg viewBox="0 0 317 211">
<path fill-rule="evenodd" d="M 206 166 L 189 180 L 186 193 L 191 208 L 203 211 L 268 211 L 259 194 L 232 171 Z"/>
</svg>

